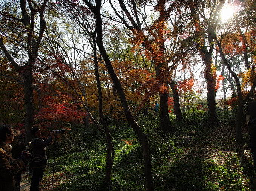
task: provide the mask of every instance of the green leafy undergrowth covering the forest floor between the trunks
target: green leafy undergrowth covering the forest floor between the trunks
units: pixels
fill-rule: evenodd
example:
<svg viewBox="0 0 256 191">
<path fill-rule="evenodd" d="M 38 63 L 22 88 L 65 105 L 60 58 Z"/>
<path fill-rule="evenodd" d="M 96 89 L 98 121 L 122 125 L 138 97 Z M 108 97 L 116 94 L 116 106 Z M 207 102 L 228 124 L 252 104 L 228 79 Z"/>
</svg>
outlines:
<svg viewBox="0 0 256 191">
<path fill-rule="evenodd" d="M 256 189 L 248 139 L 245 137 L 245 144 L 236 145 L 233 128 L 228 126 L 231 121 L 225 117 L 231 114 L 225 111 L 219 115 L 224 115 L 222 118 L 225 121 L 217 127 L 207 124 L 207 113 L 204 112 L 184 113 L 184 121 L 179 123 L 170 116 L 174 130 L 170 134 L 159 130 L 158 118 L 138 120 L 150 144 L 155 190 Z M 232 120 L 232 117 L 229 119 Z M 145 190 L 143 153 L 136 134 L 126 124 L 109 125 L 109 131 L 115 149 L 110 189 Z M 53 190 L 106 190 L 103 184 L 105 139 L 96 128 L 90 132 L 77 130 L 69 133 L 71 138 L 63 135 L 57 138 Z M 178 147 L 176 141 L 179 135 L 191 136 L 192 142 Z M 48 150 L 50 159 L 42 182 L 43 190 L 51 187 L 53 146 Z"/>
</svg>

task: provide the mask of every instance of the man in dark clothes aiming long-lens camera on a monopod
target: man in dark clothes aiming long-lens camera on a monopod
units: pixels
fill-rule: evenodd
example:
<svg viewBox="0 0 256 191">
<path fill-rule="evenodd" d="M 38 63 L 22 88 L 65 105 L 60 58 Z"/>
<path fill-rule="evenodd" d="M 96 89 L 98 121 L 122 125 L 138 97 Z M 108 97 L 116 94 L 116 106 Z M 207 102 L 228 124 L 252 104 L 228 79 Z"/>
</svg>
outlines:
<svg viewBox="0 0 256 191">
<path fill-rule="evenodd" d="M 31 179 L 30 191 L 39 191 L 39 184 L 43 178 L 43 171 L 48 165 L 45 147 L 51 144 L 55 132 L 51 131 L 48 139 L 46 140 L 40 138 L 42 136 L 42 133 L 38 127 L 32 128 L 31 134 L 34 138 L 31 141 L 33 157 L 30 160 L 30 166 L 33 170 L 33 174 Z"/>
</svg>

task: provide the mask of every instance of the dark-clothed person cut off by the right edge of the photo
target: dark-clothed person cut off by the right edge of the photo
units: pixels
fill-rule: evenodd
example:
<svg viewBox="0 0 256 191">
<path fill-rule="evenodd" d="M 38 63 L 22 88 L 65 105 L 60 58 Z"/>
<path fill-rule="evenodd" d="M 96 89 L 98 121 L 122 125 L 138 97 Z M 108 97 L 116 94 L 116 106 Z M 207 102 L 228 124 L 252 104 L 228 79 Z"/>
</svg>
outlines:
<svg viewBox="0 0 256 191">
<path fill-rule="evenodd" d="M 256 93 L 253 95 L 254 101 L 248 103 L 246 114 L 250 116 L 248 130 L 250 135 L 251 155 L 253 157 L 254 171 L 256 172 Z"/>
</svg>

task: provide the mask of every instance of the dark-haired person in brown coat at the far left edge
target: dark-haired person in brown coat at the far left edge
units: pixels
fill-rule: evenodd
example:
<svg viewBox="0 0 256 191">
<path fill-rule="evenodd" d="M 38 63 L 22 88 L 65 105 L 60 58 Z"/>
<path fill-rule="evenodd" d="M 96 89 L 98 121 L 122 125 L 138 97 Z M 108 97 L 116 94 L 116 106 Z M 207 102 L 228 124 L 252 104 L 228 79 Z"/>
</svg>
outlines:
<svg viewBox="0 0 256 191">
<path fill-rule="evenodd" d="M 0 191 L 15 191 L 14 175 L 19 173 L 28 160 L 29 152 L 22 151 L 17 159 L 12 158 L 14 133 L 11 125 L 0 125 Z"/>
</svg>

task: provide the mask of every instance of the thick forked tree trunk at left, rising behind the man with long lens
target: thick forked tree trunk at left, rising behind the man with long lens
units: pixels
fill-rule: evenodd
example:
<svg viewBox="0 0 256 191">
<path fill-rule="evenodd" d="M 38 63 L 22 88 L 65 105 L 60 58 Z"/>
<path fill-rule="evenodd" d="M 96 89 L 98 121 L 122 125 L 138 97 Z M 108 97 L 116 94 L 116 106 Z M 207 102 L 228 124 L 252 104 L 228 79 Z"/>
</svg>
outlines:
<svg viewBox="0 0 256 191">
<path fill-rule="evenodd" d="M 16 63 L 14 58 L 10 55 L 8 50 L 5 48 L 3 44 L 3 36 L 0 38 L 0 47 L 5 53 L 5 56 L 8 58 L 12 66 L 17 70 L 17 72 L 23 78 L 23 88 L 24 88 L 24 103 L 25 103 L 25 143 L 28 143 L 32 139 L 32 135 L 30 133 L 31 128 L 34 124 L 34 98 L 33 98 L 33 70 L 35 61 L 37 60 L 38 49 L 43 37 L 43 33 L 45 31 L 46 22 L 44 20 L 44 11 L 46 8 L 48 0 L 43 0 L 41 5 L 36 5 L 35 2 L 20 0 L 20 11 L 22 18 L 14 18 L 9 15 L 4 15 L 4 17 L 9 17 L 9 19 L 14 19 L 16 21 L 20 21 L 23 24 L 23 27 L 26 30 L 26 51 L 28 61 L 25 65 L 19 65 Z M 28 3 L 28 5 L 26 5 Z M 30 11 L 30 12 L 29 12 Z M 35 29 L 35 14 L 39 13 L 39 31 L 34 32 Z M 19 43 L 17 43 L 19 44 Z"/>
</svg>

